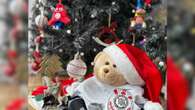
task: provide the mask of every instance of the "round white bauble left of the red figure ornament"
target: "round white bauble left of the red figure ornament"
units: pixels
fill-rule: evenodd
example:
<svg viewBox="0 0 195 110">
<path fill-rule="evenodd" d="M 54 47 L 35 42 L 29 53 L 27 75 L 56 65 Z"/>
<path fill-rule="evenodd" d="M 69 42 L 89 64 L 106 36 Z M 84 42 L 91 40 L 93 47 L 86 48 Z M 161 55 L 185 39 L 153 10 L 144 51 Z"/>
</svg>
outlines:
<svg viewBox="0 0 195 110">
<path fill-rule="evenodd" d="M 47 22 L 48 22 L 48 19 L 47 17 L 45 17 L 44 15 L 38 15 L 36 18 L 35 18 L 35 24 L 42 28 L 44 27 L 45 25 L 47 25 Z"/>
</svg>

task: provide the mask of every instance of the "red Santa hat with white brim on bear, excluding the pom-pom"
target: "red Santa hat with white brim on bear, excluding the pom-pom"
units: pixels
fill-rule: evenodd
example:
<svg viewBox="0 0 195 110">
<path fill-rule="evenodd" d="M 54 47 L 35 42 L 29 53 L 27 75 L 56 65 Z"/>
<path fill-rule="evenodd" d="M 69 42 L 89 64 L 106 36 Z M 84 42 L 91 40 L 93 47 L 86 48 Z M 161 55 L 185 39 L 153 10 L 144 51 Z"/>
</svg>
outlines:
<svg viewBox="0 0 195 110">
<path fill-rule="evenodd" d="M 112 58 L 129 84 L 144 86 L 145 96 L 153 102 L 159 102 L 162 77 L 144 51 L 128 44 L 119 44 L 111 45 L 103 52 Z"/>
</svg>

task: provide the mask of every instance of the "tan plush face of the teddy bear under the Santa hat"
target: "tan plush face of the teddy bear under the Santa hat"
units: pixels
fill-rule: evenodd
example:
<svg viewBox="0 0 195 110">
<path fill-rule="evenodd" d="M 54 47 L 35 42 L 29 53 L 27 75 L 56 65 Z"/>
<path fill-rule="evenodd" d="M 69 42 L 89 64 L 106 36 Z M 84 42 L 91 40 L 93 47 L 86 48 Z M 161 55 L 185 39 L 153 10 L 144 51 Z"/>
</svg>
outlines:
<svg viewBox="0 0 195 110">
<path fill-rule="evenodd" d="M 103 83 L 112 86 L 122 86 L 126 80 L 117 70 L 116 64 L 104 52 L 100 52 L 94 60 L 94 74 Z"/>
</svg>

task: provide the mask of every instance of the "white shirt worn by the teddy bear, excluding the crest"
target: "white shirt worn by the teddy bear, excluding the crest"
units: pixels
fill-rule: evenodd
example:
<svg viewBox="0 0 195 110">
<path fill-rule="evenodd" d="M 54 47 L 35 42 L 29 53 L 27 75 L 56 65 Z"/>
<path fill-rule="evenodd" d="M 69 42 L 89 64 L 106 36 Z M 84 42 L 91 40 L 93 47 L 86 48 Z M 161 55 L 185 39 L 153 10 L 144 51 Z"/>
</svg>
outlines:
<svg viewBox="0 0 195 110">
<path fill-rule="evenodd" d="M 116 88 L 126 89 L 128 92 L 132 94 L 132 97 L 140 96 L 142 97 L 144 90 L 139 86 L 131 86 L 124 85 L 120 87 L 114 87 L 107 84 L 103 84 L 96 79 L 95 76 L 83 81 L 77 88 L 76 93 L 80 97 L 82 97 L 85 101 L 85 104 L 88 106 L 92 103 L 101 104 L 103 106 L 103 110 L 107 110 L 107 103 L 109 98 L 113 95 L 113 91 Z M 140 108 L 135 105 L 136 109 L 140 110 Z"/>
</svg>

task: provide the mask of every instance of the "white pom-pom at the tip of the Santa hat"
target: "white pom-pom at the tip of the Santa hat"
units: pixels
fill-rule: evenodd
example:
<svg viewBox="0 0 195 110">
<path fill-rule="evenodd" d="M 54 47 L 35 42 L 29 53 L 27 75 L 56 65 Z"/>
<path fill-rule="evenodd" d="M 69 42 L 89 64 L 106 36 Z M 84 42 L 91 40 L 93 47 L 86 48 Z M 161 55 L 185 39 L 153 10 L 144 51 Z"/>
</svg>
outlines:
<svg viewBox="0 0 195 110">
<path fill-rule="evenodd" d="M 163 107 L 159 103 L 148 101 L 144 105 L 144 110 L 163 110 Z"/>
</svg>

